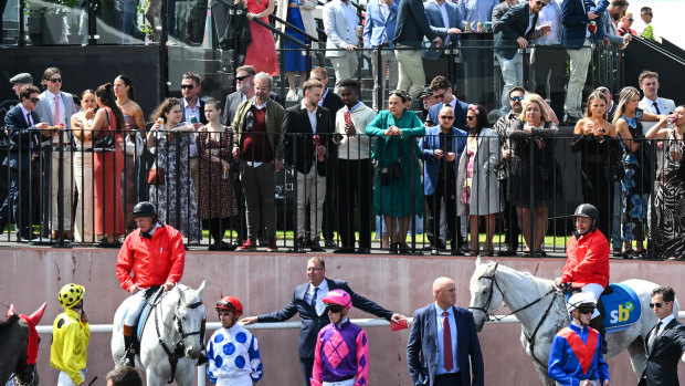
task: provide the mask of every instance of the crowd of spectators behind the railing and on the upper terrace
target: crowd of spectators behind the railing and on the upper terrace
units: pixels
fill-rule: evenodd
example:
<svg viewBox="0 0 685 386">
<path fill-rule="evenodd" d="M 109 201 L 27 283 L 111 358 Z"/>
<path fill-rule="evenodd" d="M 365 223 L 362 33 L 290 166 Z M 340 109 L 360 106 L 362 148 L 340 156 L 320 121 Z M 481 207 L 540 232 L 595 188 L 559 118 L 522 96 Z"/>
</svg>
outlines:
<svg viewBox="0 0 685 386">
<path fill-rule="evenodd" d="M 307 2 L 280 6 L 281 17 L 308 31 Z M 548 211 L 562 190 L 556 137 L 558 126 L 566 125 L 575 126 L 570 147 L 581 156 L 582 197 L 600 209 L 600 229 L 616 254 L 644 255 L 647 228 L 661 226 L 681 234 L 668 211 L 654 206 L 671 202 L 668 194 L 679 188 L 676 178 L 666 185 L 670 191 L 660 190 L 664 170 L 679 168 L 679 119 L 671 116 L 675 104 L 657 96 L 658 74 L 647 71 L 639 80 L 642 101 L 636 88 L 625 87 L 615 105 L 611 91 L 600 87 L 587 100 L 584 117 L 582 109 L 591 44 L 623 46 L 631 41 L 628 6 L 625 0 L 600 1 L 594 8 L 580 0 L 456 6 L 379 0 L 369 4 L 362 28 L 351 3 L 336 0 L 324 8 L 335 86 L 327 87 L 324 67 L 305 73 L 308 59 L 291 48 L 286 102 L 296 104 L 288 109 L 273 92 L 277 63 L 271 59 L 271 40 L 260 40 L 261 30 L 273 36 L 254 22 L 251 46 L 265 46 L 270 53 L 255 60 L 264 53 L 247 48 L 244 62 L 253 64 L 238 67 L 236 91 L 225 103 L 200 98 L 202 80 L 190 72 L 181 79 L 182 97 L 165 100 L 149 117 L 135 102 L 133 80 L 124 74 L 74 97 L 62 91 L 60 70 L 50 67 L 35 105 L 32 95 L 38 88 L 22 86 L 32 80 L 17 79 L 12 83 L 20 111 L 6 118 L 12 145 L 9 168 L 17 173 L 0 209 L 0 226 L 4 230 L 10 222 L 13 206 L 21 239 L 38 237 L 28 225 L 35 220 L 31 213 L 41 213 L 43 238 L 112 244 L 135 227 L 127 215 L 133 205 L 149 198 L 160 220 L 178 228 L 191 246 L 200 242 L 204 228 L 212 249 L 266 246 L 275 251 L 275 176 L 285 161 L 295 180 L 296 249 L 340 247 L 340 252 L 350 252 L 359 232 L 357 251 L 369 252 L 372 208 L 383 218 L 389 250 L 408 252 L 412 219 L 425 209 L 433 253 L 446 247 L 449 234 L 454 254 L 492 255 L 496 222 L 504 219 L 505 241 L 498 253 L 516 253 L 520 233 L 527 254 L 545 255 Z M 246 7 L 250 20 L 266 20 L 275 4 Z M 651 22 L 650 9 L 642 9 L 641 15 Z M 466 23 L 494 23 L 504 81 L 497 122 L 488 122 L 481 101 L 460 101 L 443 75 L 424 87 L 426 74 L 453 64 L 440 48 L 459 40 Z M 521 87 L 518 49 L 533 43 L 527 91 Z M 362 46 L 383 49 L 382 55 L 375 55 L 381 60 L 372 62 L 371 107 L 360 101 L 360 85 L 350 80 Z M 566 73 L 556 69 L 567 60 L 565 85 Z M 391 88 L 397 82 L 397 92 L 383 90 L 386 74 Z M 422 113 L 411 109 L 418 96 L 425 107 Z M 18 114 L 22 122 L 17 122 Z M 667 116 L 671 121 L 663 123 Z M 660 123 L 649 142 L 647 122 Z M 29 128 L 27 137 L 17 135 L 23 126 Z M 674 145 L 664 146 L 670 142 Z M 109 194 L 114 191 L 120 194 Z M 657 199 L 658 194 L 666 197 Z M 482 248 L 479 218 L 486 233 Z M 236 237 L 224 242 L 229 229 Z M 673 250 L 657 253 L 683 257 Z"/>
</svg>

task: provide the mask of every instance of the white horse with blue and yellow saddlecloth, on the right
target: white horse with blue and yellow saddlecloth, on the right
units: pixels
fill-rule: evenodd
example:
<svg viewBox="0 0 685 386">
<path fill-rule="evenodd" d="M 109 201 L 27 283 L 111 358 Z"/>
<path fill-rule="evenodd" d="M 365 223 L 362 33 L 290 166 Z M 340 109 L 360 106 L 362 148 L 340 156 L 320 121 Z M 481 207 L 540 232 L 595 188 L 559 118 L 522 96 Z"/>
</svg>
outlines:
<svg viewBox="0 0 685 386">
<path fill-rule="evenodd" d="M 640 377 L 646 361 L 645 336 L 658 322 L 649 307 L 652 290 L 657 284 L 636 279 L 626 280 L 622 284 L 637 294 L 642 304 L 642 317 L 624 331 L 607 334 L 609 352 L 604 358 L 628 348 L 633 372 Z M 470 290 L 468 309 L 473 312 L 478 331 L 483 328 L 486 320 L 494 316 L 494 311 L 502 303 L 506 304 L 520 322 L 520 342 L 528 357 L 533 359 L 542 384 L 554 386 L 555 380 L 547 375 L 551 341 L 559 330 L 570 324 L 561 290 L 551 280 L 516 271 L 500 265 L 499 262 L 481 262 L 479 258 L 476 259 L 476 269 L 471 277 Z M 677 313 L 676 309 L 677 303 L 674 313 Z"/>
</svg>

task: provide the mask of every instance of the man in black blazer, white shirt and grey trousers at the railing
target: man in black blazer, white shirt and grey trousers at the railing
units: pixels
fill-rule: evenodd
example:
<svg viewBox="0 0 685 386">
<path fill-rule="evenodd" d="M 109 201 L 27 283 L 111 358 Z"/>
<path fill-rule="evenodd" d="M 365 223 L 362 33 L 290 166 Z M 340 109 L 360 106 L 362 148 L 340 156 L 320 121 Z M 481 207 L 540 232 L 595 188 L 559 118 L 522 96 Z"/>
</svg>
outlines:
<svg viewBox="0 0 685 386">
<path fill-rule="evenodd" d="M 319 247 L 324 200 L 326 199 L 326 169 L 328 149 L 333 150 L 333 118 L 326 107 L 318 105 L 324 84 L 308 80 L 303 85 L 304 98 L 289 107 L 283 116 L 283 154 L 293 167 L 297 180 L 297 233 L 295 248 Z M 316 138 L 316 139 L 314 139 Z M 333 153 L 333 152 L 331 152 Z M 309 205 L 309 232 L 305 232 L 305 218 Z"/>
</svg>

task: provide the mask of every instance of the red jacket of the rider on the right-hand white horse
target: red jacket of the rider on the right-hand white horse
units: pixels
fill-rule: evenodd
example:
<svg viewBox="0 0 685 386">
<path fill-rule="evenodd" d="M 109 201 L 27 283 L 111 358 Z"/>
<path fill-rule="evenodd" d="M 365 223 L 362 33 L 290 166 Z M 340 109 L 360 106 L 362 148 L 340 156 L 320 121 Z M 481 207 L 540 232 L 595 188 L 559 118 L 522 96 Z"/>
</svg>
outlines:
<svg viewBox="0 0 685 386">
<path fill-rule="evenodd" d="M 583 286 L 597 283 L 603 288 L 609 284 L 609 241 L 599 229 L 577 239 L 569 240 L 566 247 L 566 265 L 561 281 Z"/>
</svg>

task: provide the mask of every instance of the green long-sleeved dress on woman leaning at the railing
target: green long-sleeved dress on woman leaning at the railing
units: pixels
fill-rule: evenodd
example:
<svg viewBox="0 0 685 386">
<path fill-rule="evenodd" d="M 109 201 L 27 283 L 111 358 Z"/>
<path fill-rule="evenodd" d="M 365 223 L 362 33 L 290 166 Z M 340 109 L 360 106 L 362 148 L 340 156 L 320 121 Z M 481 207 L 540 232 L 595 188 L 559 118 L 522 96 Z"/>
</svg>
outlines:
<svg viewBox="0 0 685 386">
<path fill-rule="evenodd" d="M 402 136 L 384 137 L 390 126 L 402 129 Z M 404 111 L 402 117 L 396 119 L 389 111 L 378 113 L 367 126 L 366 134 L 378 136 L 372 157 L 378 160 L 380 170 L 391 163 L 400 160 L 402 178 L 390 185 L 380 184 L 380 174 L 376 175 L 373 191 L 373 209 L 376 215 L 404 217 L 412 213 L 423 215 L 423 187 L 421 186 L 421 168 L 417 155 L 420 154 L 418 136 L 425 134 L 425 127 L 417 113 Z"/>
</svg>

